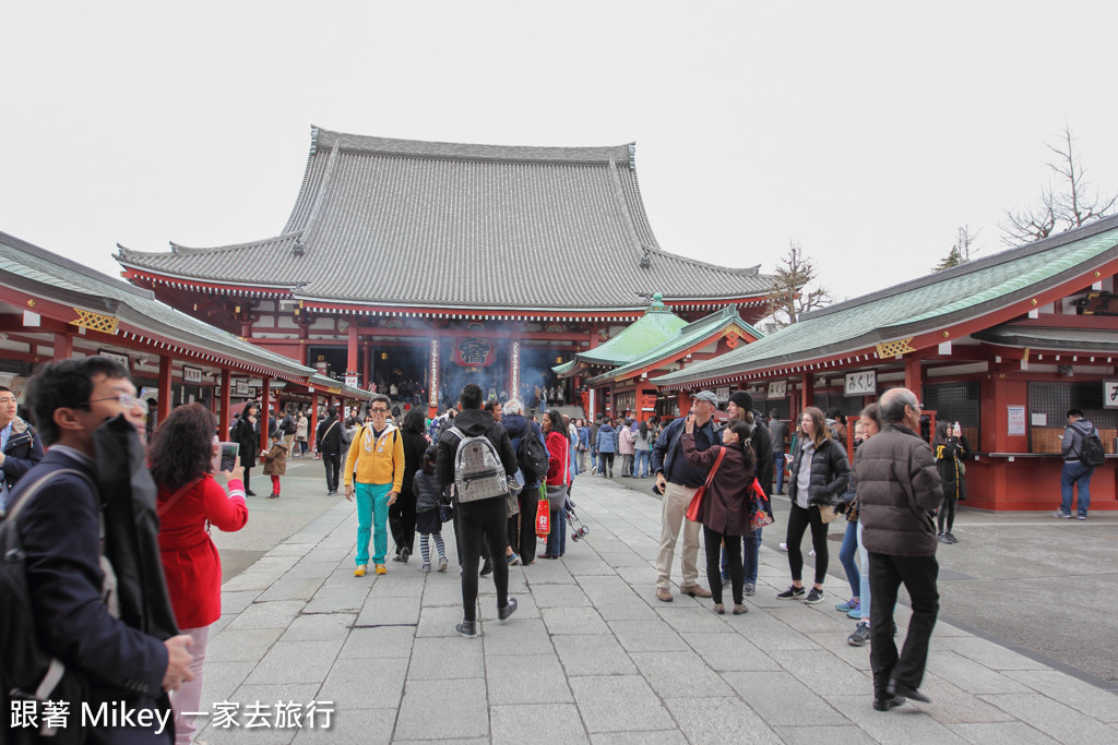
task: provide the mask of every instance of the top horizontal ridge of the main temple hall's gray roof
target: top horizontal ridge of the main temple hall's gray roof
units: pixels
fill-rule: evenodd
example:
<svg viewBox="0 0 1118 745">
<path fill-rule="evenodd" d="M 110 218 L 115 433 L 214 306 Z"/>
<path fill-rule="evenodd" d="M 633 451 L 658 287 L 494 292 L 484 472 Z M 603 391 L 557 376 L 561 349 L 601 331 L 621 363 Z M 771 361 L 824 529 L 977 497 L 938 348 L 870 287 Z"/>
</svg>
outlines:
<svg viewBox="0 0 1118 745">
<path fill-rule="evenodd" d="M 533 163 L 584 163 L 607 165 L 610 159 L 628 163 L 629 146 L 591 145 L 579 147 L 544 147 L 538 145 L 485 145 L 425 140 L 396 140 L 363 134 L 313 128 L 312 156 L 315 149 L 339 146 L 341 150 L 400 157 L 443 160 L 514 161 Z"/>
</svg>

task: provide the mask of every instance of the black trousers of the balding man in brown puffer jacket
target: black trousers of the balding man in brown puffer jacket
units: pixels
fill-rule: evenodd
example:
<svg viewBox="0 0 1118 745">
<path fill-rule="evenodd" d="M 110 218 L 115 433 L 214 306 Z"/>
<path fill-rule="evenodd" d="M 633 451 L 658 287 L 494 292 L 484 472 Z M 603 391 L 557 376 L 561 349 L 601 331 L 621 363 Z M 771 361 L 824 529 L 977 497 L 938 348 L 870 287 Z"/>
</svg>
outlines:
<svg viewBox="0 0 1118 745">
<path fill-rule="evenodd" d="M 928 644 L 939 614 L 935 556 L 870 554 L 870 667 L 873 695 L 885 697 L 890 680 L 919 688 L 928 663 Z M 912 600 L 912 620 L 900 655 L 893 643 L 893 608 L 901 583 Z"/>
</svg>

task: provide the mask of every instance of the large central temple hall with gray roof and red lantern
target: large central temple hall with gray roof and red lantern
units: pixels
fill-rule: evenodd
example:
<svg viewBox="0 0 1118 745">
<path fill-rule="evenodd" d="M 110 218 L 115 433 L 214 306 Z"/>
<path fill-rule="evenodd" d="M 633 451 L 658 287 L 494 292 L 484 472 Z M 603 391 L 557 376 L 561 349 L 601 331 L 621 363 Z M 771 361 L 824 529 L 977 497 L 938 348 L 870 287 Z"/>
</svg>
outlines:
<svg viewBox="0 0 1118 745">
<path fill-rule="evenodd" d="M 408 391 L 432 411 L 466 382 L 525 400 L 558 385 L 578 401 L 586 381 L 552 367 L 624 331 L 655 294 L 688 322 L 730 307 L 746 323 L 765 315 L 770 278 L 758 267 L 660 246 L 635 150 L 315 127 L 277 235 L 119 246 L 115 258 L 176 308 L 354 386 Z M 608 405 L 600 397 L 587 413 Z"/>
</svg>

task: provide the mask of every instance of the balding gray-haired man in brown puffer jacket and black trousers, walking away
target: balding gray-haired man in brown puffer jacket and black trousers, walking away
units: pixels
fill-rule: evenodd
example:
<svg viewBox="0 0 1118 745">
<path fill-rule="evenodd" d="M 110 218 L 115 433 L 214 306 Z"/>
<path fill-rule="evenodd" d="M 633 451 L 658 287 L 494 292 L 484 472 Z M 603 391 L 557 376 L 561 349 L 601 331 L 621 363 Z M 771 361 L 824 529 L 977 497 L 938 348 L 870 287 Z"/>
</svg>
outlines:
<svg viewBox="0 0 1118 745">
<path fill-rule="evenodd" d="M 944 485 L 931 446 L 920 438 L 916 393 L 890 389 L 879 405 L 885 428 L 854 453 L 854 475 L 862 541 L 870 553 L 873 708 L 888 711 L 906 698 L 929 703 L 918 688 L 939 614 L 938 541 L 931 515 L 944 500 Z M 912 600 L 912 619 L 898 656 L 892 629 L 901 583 Z"/>
</svg>

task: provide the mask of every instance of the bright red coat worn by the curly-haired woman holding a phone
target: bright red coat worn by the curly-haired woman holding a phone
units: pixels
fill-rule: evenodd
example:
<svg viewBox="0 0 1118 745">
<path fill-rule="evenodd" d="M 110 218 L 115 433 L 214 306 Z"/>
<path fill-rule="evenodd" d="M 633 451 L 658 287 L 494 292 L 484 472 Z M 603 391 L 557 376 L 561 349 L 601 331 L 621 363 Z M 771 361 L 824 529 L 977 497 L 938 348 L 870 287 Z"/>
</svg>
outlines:
<svg viewBox="0 0 1118 745">
<path fill-rule="evenodd" d="M 221 558 L 206 532 L 209 520 L 221 531 L 248 522 L 244 484 L 229 481 L 229 496 L 207 475 L 160 517 L 159 551 L 163 575 L 180 629 L 198 629 L 221 617 Z M 159 487 L 162 506 L 178 489 Z"/>
</svg>

